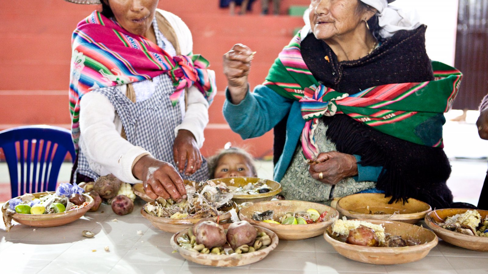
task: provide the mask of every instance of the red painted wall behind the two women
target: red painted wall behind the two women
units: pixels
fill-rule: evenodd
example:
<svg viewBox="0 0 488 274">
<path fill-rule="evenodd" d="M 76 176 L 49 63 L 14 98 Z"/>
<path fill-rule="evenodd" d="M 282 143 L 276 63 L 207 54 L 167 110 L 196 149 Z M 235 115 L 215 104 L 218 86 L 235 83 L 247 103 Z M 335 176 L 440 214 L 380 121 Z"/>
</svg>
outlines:
<svg viewBox="0 0 488 274">
<path fill-rule="evenodd" d="M 282 14 L 289 5 L 307 5 L 308 0 L 283 0 Z M 255 157 L 272 154 L 272 132 L 242 140 L 222 116 L 226 81 L 222 56 L 233 44 L 244 43 L 256 51 L 251 87 L 263 82 L 280 50 L 303 25 L 302 18 L 261 16 L 261 3 L 245 16 L 230 16 L 218 1 L 161 0 L 159 7 L 180 16 L 193 34 L 194 52 L 202 54 L 216 71 L 219 94 L 210 106 L 205 129 L 204 156 L 210 156 L 228 141 L 244 146 Z M 3 1 L 0 9 L 0 130 L 26 124 L 52 124 L 68 128 L 67 86 L 71 57 L 71 32 L 96 5 L 78 5 L 63 0 Z"/>
</svg>

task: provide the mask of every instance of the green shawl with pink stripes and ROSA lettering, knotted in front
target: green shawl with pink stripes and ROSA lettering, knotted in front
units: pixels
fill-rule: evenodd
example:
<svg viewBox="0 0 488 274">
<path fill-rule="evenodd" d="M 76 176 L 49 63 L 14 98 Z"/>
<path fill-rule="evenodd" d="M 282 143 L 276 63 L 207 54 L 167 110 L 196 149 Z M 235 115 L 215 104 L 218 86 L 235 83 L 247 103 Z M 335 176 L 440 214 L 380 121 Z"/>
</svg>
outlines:
<svg viewBox="0 0 488 274">
<path fill-rule="evenodd" d="M 300 33 L 285 46 L 272 65 L 264 85 L 283 97 L 299 100 L 304 157 L 318 155 L 314 131 L 318 118 L 346 114 L 390 136 L 413 143 L 443 147 L 442 125 L 461 83 L 459 70 L 432 61 L 433 81 L 374 86 L 349 95 L 319 83 L 300 52 Z M 426 137 L 425 135 L 428 135 Z"/>
</svg>

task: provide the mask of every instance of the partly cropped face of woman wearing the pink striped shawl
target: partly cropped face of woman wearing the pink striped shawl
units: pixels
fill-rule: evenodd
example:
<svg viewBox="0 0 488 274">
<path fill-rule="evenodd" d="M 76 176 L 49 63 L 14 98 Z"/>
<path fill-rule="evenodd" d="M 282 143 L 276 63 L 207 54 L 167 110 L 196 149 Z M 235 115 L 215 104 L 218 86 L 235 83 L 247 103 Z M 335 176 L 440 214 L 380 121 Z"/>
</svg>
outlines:
<svg viewBox="0 0 488 274">
<path fill-rule="evenodd" d="M 154 19 L 159 0 L 105 0 L 115 19 L 130 33 L 144 36 Z"/>
</svg>

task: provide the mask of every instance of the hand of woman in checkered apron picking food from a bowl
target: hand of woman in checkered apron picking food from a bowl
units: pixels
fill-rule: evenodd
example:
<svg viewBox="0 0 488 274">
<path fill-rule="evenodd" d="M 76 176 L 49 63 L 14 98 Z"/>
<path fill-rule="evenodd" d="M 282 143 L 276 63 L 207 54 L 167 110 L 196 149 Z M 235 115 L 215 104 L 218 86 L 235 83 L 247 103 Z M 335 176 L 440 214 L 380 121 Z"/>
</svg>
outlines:
<svg viewBox="0 0 488 274">
<path fill-rule="evenodd" d="M 183 179 L 168 162 L 146 155 L 136 162 L 132 173 L 142 180 L 144 191 L 151 199 L 161 196 L 180 202 L 186 198 Z"/>
</svg>

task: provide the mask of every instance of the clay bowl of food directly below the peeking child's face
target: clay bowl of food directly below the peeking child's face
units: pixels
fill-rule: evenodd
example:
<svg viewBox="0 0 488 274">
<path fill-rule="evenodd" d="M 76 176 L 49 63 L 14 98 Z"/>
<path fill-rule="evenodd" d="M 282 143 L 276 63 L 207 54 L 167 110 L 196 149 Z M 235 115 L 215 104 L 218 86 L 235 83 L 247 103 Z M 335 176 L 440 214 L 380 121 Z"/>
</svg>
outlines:
<svg viewBox="0 0 488 274">
<path fill-rule="evenodd" d="M 233 194 L 232 200 L 237 204 L 269 201 L 282 190 L 279 182 L 254 177 L 217 178 L 210 181 L 221 189 L 226 186 L 228 192 Z"/>
</svg>

